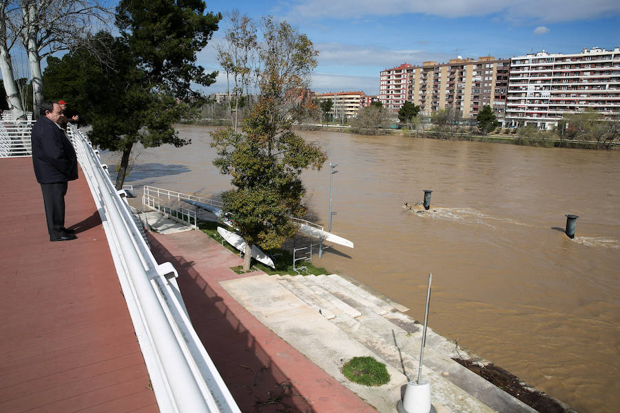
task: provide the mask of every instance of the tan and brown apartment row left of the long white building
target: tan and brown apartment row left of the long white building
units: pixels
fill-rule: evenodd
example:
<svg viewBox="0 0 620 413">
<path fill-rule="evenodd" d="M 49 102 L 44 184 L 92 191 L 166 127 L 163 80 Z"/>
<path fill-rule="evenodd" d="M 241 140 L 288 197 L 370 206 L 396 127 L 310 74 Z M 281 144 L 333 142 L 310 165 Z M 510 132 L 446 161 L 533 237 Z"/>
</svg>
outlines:
<svg viewBox="0 0 620 413">
<path fill-rule="evenodd" d="M 504 118 L 510 60 L 482 56 L 428 61 L 422 66 L 404 63 L 381 72 L 379 100 L 397 112 L 409 100 L 420 112 L 431 116 L 445 107 L 455 107 L 464 119 L 475 118 L 486 105 L 498 119 Z"/>
</svg>

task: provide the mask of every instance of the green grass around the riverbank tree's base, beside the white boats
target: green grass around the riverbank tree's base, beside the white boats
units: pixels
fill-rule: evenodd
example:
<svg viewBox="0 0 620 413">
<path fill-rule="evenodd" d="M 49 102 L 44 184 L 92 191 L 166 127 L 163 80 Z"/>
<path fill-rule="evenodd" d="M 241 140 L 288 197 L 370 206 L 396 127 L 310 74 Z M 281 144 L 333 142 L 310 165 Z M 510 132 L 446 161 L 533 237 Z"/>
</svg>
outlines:
<svg viewBox="0 0 620 413">
<path fill-rule="evenodd" d="M 220 233 L 218 233 L 218 226 L 223 226 L 223 224 L 218 224 L 217 222 L 211 222 L 211 221 L 198 220 L 198 228 L 200 229 L 200 231 L 203 231 L 203 233 L 209 235 L 209 237 L 213 238 L 220 244 L 223 244 L 230 251 L 233 251 L 234 253 L 238 254 L 239 253 L 238 249 L 235 248 L 234 246 L 231 246 L 231 244 L 226 242 L 224 238 L 220 235 Z M 260 262 L 253 259 L 252 260 L 253 264 L 251 268 L 254 268 L 254 269 L 251 271 L 256 271 L 258 269 L 269 275 L 274 275 L 274 274 L 295 275 L 296 274 L 296 272 L 293 271 L 293 254 L 291 254 L 289 251 L 277 249 L 277 250 L 269 250 L 265 252 L 271 256 L 271 259 L 273 260 L 273 264 L 276 266 L 276 269 L 268 267 L 265 264 L 261 264 Z M 300 266 L 307 267 L 307 271 L 309 274 L 314 274 L 314 275 L 332 274 L 331 272 L 328 272 L 325 268 L 315 266 L 309 261 L 307 262 L 298 261 L 297 267 L 299 268 Z M 232 267 L 232 270 L 238 274 L 244 273 L 244 271 L 242 270 L 242 266 Z M 302 271 L 302 274 L 304 274 L 303 271 Z"/>
</svg>

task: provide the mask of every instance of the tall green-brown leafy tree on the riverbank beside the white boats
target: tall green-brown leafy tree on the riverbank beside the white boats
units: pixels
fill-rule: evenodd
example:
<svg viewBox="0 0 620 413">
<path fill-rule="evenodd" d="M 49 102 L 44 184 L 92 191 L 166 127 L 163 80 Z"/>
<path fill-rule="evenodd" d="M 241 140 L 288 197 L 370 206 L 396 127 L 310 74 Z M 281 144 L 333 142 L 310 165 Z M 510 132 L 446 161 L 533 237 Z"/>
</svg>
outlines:
<svg viewBox="0 0 620 413">
<path fill-rule="evenodd" d="M 218 151 L 214 165 L 235 187 L 222 195 L 223 213 L 245 240 L 245 271 L 252 246 L 276 248 L 297 231 L 291 218 L 307 211 L 300 175 L 309 167 L 320 169 L 327 159 L 291 130 L 310 100 L 307 84 L 317 56 L 312 42 L 271 17 L 263 19 L 262 35 L 260 100 L 242 121 L 241 134 L 218 131 L 211 142 Z"/>
</svg>

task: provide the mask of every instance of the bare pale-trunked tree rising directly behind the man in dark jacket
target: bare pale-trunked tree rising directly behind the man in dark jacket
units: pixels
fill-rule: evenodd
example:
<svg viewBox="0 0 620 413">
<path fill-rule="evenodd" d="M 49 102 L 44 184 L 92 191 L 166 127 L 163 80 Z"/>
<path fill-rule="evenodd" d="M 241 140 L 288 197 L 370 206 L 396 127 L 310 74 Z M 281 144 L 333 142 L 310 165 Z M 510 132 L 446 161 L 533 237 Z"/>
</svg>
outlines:
<svg viewBox="0 0 620 413">
<path fill-rule="evenodd" d="M 43 103 L 41 61 L 82 45 L 93 30 L 107 26 L 111 13 L 96 0 L 8 0 L 5 6 L 10 13 L 3 16 L 4 32 L 17 34 L 28 55 L 33 109 L 38 113 Z"/>
</svg>

